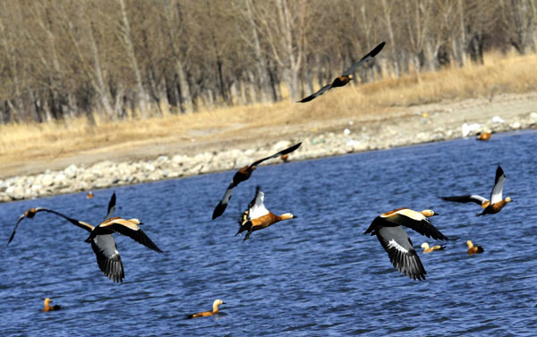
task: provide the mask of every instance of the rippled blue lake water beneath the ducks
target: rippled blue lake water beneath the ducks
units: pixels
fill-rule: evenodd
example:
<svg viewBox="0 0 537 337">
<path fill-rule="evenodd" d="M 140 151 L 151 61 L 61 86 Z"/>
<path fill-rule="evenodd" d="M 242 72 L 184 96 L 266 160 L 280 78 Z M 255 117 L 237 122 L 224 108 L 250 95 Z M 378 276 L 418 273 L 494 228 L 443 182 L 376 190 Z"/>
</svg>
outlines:
<svg viewBox="0 0 537 337">
<path fill-rule="evenodd" d="M 55 215 L 27 219 L 0 250 L 0 335 L 329 336 L 536 335 L 537 132 L 494 134 L 415 147 L 262 165 L 211 221 L 233 173 L 115 188 L 115 215 L 138 217 L 164 254 L 115 234 L 124 283 L 98 269 L 87 232 Z M 490 197 L 497 164 L 508 204 L 475 216 L 475 204 L 442 195 Z M 299 216 L 234 237 L 236 219 L 259 184 L 276 214 Z M 113 190 L 0 205 L 0 243 L 31 206 L 97 224 Z M 407 230 L 427 271 L 413 281 L 391 265 L 375 216 L 432 208 L 447 249 Z M 481 255 L 466 254 L 466 240 Z M 428 240 L 432 243 L 431 240 Z M 41 312 L 49 297 L 64 309 Z M 224 299 L 217 316 L 183 320 Z"/>
</svg>

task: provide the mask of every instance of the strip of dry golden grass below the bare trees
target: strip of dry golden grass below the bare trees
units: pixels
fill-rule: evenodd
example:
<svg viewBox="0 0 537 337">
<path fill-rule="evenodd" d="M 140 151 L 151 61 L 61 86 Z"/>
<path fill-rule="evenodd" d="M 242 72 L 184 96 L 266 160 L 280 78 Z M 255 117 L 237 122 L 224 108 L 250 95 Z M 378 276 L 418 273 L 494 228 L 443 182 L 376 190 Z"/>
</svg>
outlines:
<svg viewBox="0 0 537 337">
<path fill-rule="evenodd" d="M 147 120 L 98 121 L 93 126 L 84 118 L 0 125 L 0 156 L 3 164 L 47 160 L 100 148 L 111 151 L 149 143 L 188 142 L 192 138 L 230 139 L 270 126 L 378 118 L 410 105 L 533 92 L 537 88 L 535 69 L 537 55 L 488 54 L 482 65 L 409 74 L 399 79 L 386 76 L 371 84 L 336 88 L 306 104 L 284 101 L 235 106 Z"/>
</svg>

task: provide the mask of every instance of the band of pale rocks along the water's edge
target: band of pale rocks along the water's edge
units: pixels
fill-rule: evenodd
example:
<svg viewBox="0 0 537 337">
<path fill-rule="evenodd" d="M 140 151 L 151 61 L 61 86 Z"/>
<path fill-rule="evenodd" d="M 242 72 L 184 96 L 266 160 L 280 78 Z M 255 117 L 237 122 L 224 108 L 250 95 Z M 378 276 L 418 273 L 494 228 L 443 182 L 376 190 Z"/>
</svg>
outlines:
<svg viewBox="0 0 537 337">
<path fill-rule="evenodd" d="M 495 116 L 482 123 L 458 123 L 456 126 L 449 126 L 449 122 L 444 119 L 445 115 L 441 113 L 419 113 L 407 118 L 405 122 L 392 120 L 361 123 L 359 126 L 349 122 L 337 133 L 327 132 L 302 139 L 281 140 L 276 144 L 247 150 L 207 151 L 196 156 L 158 156 L 154 160 L 124 163 L 104 161 L 88 167 L 71 164 L 62 171 L 47 171 L 0 181 L 0 202 L 234 170 L 299 141 L 303 145 L 289 156 L 292 161 L 475 137 L 483 131 L 537 128 L 537 112 L 518 114 L 510 120 Z M 281 160 L 273 159 L 268 162 L 270 163 L 281 163 Z"/>
</svg>

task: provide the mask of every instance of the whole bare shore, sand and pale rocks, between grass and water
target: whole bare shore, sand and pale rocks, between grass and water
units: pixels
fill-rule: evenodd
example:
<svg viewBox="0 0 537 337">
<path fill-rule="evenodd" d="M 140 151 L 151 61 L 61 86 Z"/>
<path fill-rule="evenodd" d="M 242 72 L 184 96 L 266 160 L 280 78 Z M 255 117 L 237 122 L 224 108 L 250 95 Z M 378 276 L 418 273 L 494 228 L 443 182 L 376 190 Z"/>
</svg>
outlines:
<svg viewBox="0 0 537 337">
<path fill-rule="evenodd" d="M 277 133 L 260 127 L 233 139 L 226 132 L 207 130 L 199 139 L 159 139 L 138 147 L 112 145 L 46 161 L 3 163 L 4 177 L 6 172 L 9 177 L 0 180 L 0 201 L 233 170 L 296 142 L 303 146 L 290 160 L 530 128 L 537 128 L 534 93 L 414 105 L 391 114 L 330 122 L 304 121 Z"/>
</svg>

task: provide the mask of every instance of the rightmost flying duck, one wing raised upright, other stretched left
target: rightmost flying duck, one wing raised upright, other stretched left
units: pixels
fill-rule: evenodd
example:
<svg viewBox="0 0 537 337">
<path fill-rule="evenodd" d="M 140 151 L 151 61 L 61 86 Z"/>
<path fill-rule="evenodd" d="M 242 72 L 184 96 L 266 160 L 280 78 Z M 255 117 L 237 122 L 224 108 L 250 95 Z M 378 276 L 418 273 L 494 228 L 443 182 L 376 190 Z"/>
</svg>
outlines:
<svg viewBox="0 0 537 337">
<path fill-rule="evenodd" d="M 488 215 L 488 214 L 496 214 L 501 209 L 507 205 L 507 203 L 513 201 L 511 197 L 502 198 L 503 194 L 503 186 L 506 183 L 506 175 L 504 174 L 502 168 L 500 165 L 498 165 L 498 168 L 496 169 L 496 178 L 494 180 L 494 187 L 492 188 L 492 191 L 490 192 L 490 200 L 487 198 L 483 198 L 482 196 L 478 196 L 476 194 L 472 195 L 466 195 L 466 196 L 456 196 L 456 197 L 441 197 L 444 200 L 447 201 L 456 201 L 456 202 L 473 202 L 478 205 L 481 205 L 483 208 L 482 213 L 478 213 L 477 216 L 480 215 Z"/>
</svg>

